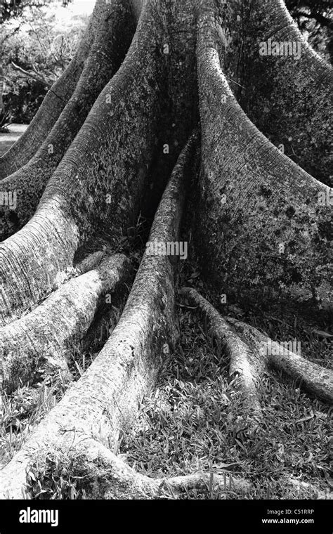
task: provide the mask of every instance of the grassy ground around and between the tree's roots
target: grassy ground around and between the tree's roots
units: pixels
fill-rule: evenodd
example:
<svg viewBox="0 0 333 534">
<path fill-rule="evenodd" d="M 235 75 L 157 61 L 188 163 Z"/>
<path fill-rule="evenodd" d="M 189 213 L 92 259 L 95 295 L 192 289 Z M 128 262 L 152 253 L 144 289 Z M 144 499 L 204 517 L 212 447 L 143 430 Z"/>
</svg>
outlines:
<svg viewBox="0 0 333 534">
<path fill-rule="evenodd" d="M 207 490 L 189 490 L 178 496 L 183 499 L 244 498 L 233 489 L 226 493 L 214 489 L 214 473 L 225 472 L 253 483 L 245 496 L 249 499 L 315 498 L 317 491 L 328 495 L 332 478 L 327 405 L 279 375 L 264 376 L 261 402 L 266 424 L 249 431 L 239 394 L 228 379 L 228 361 L 207 339 L 192 310 L 180 304 L 179 315 L 178 347 L 166 358 L 154 391 L 143 399 L 137 428 L 119 434 L 117 454 L 152 477 L 212 473 Z M 73 379 L 79 379 L 90 362 L 79 356 L 72 367 Z M 58 374 L 4 396 L 1 464 L 8 462 L 68 387 L 70 383 Z M 65 485 L 65 491 L 63 478 L 63 486 L 59 484 L 53 486 L 53 497 L 80 496 L 74 483 L 71 488 Z"/>
</svg>

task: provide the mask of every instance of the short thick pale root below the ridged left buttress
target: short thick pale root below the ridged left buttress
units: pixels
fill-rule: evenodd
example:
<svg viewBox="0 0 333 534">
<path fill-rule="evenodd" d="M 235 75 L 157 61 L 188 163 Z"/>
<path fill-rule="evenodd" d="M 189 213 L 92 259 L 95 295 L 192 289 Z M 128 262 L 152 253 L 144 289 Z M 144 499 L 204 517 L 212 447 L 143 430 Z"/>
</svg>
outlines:
<svg viewBox="0 0 333 534">
<path fill-rule="evenodd" d="M 126 256 L 104 259 L 93 271 L 72 278 L 46 301 L 0 330 L 3 388 L 31 382 L 39 367 L 67 371 L 67 361 L 86 334 L 101 297 L 129 278 Z"/>
</svg>

